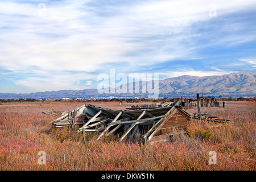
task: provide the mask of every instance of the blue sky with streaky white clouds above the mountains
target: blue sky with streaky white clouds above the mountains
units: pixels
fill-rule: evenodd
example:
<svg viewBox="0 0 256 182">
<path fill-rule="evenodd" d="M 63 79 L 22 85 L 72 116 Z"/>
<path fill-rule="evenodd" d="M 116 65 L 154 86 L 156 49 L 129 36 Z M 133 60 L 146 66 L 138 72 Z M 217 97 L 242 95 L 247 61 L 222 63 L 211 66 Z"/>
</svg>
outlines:
<svg viewBox="0 0 256 182">
<path fill-rule="evenodd" d="M 256 1 L 0 1 L 0 93 L 97 88 L 110 69 L 256 73 Z"/>
</svg>

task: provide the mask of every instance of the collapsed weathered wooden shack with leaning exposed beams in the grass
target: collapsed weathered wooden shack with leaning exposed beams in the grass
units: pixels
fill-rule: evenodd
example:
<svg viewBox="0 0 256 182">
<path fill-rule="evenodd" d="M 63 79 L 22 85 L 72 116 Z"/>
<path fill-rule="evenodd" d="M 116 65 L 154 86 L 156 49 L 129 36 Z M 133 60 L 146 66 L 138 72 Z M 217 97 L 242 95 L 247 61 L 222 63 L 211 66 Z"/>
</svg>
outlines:
<svg viewBox="0 0 256 182">
<path fill-rule="evenodd" d="M 80 125 L 76 134 L 86 131 L 101 132 L 97 139 L 103 135 L 109 137 L 111 134 L 118 134 L 119 141 L 135 138 L 143 143 L 154 143 L 168 141 L 174 134 L 186 133 L 188 122 L 201 116 L 202 114 L 193 115 L 184 111 L 180 101 L 171 106 L 167 104 L 163 107 L 135 110 L 114 110 L 84 104 L 55 119 L 52 125 L 72 129 L 75 125 Z M 208 119 L 212 119 L 208 116 Z M 214 122 L 218 122 L 214 119 Z"/>
</svg>

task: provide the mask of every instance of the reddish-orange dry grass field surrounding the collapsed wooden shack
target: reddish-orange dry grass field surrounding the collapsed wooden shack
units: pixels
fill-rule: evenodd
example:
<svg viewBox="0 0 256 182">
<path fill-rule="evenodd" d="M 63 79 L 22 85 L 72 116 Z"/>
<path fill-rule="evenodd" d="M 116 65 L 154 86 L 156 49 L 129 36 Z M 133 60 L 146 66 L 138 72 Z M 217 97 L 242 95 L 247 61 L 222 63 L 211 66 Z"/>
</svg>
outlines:
<svg viewBox="0 0 256 182">
<path fill-rule="evenodd" d="M 3 103 L 0 105 L 1 170 L 255 170 L 255 101 L 226 101 L 225 108 L 203 107 L 202 112 L 230 119 L 221 127 L 191 121 L 188 135 L 171 142 L 144 145 L 118 142 L 114 137 L 96 140 L 95 133 L 73 134 L 68 128 L 52 129 L 59 116 L 43 114 L 46 109 L 62 112 L 84 102 Z M 100 105 L 101 102 L 90 102 Z M 100 106 L 125 109 L 131 104 L 104 102 Z M 188 110 L 189 112 L 196 112 Z M 39 165 L 38 152 L 46 152 Z M 217 153 L 217 164 L 209 164 L 209 151 Z"/>
</svg>

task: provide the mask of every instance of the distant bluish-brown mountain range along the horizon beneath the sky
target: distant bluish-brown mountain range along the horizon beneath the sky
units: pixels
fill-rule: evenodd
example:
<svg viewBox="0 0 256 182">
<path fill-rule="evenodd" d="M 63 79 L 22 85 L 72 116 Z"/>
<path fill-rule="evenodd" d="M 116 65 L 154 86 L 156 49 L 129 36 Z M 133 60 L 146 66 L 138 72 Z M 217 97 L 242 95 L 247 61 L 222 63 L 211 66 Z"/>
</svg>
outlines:
<svg viewBox="0 0 256 182">
<path fill-rule="evenodd" d="M 143 89 L 142 82 L 134 82 Z M 122 88 L 122 87 L 121 87 Z M 116 88 L 115 90 L 119 90 Z M 111 90 L 109 88 L 109 90 Z M 204 96 L 256 96 L 256 74 L 250 72 L 238 72 L 221 76 L 179 76 L 159 80 L 159 97 L 195 97 L 196 93 L 203 93 Z M 0 99 L 19 98 L 106 98 L 106 97 L 147 97 L 147 94 L 100 94 L 97 89 L 84 90 L 59 90 L 52 92 L 36 92 L 28 94 L 0 93 Z"/>
</svg>

